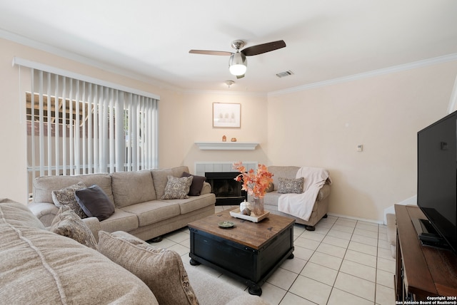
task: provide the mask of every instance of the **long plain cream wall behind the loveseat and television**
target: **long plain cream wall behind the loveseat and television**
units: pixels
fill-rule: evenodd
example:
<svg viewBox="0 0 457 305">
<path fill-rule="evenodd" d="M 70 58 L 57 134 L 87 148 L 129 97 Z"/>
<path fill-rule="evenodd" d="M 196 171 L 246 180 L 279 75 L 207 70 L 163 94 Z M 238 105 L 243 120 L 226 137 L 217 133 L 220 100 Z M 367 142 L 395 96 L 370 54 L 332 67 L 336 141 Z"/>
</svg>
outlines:
<svg viewBox="0 0 457 305">
<path fill-rule="evenodd" d="M 381 221 L 416 194 L 416 133 L 447 114 L 456 75 L 441 63 L 271 96 L 268 163 L 326 167 L 331 212 Z"/>
</svg>

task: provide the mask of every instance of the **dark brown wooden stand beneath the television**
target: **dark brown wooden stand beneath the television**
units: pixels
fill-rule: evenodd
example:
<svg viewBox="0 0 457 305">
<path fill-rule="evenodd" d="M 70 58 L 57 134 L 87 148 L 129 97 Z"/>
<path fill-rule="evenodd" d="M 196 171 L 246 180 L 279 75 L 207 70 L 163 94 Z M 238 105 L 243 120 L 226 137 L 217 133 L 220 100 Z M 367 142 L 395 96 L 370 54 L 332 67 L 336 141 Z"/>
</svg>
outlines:
<svg viewBox="0 0 457 305">
<path fill-rule="evenodd" d="M 396 301 L 457 301 L 457 255 L 423 246 L 411 219 L 426 219 L 413 205 L 395 205 L 397 219 Z M 433 299 L 443 296 L 443 299 Z M 436 303 L 435 303 L 436 304 Z"/>
</svg>

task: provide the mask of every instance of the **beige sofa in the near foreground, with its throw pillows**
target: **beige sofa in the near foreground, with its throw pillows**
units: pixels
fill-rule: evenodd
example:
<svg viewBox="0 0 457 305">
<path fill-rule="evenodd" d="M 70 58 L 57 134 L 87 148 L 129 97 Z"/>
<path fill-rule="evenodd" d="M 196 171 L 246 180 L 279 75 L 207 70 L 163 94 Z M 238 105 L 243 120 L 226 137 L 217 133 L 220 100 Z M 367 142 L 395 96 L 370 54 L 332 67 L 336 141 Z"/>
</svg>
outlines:
<svg viewBox="0 0 457 305">
<path fill-rule="evenodd" d="M 97 249 L 66 236 L 26 205 L 0 198 L 2 304 L 268 304 L 125 232 L 100 232 Z"/>
</svg>

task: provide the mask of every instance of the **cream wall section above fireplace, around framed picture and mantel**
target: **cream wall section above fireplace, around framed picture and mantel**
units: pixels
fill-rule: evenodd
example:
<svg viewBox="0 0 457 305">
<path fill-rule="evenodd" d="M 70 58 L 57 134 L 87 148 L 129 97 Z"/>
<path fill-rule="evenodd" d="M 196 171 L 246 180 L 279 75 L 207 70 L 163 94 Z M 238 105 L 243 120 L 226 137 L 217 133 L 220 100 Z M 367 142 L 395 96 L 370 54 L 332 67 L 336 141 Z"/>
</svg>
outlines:
<svg viewBox="0 0 457 305">
<path fill-rule="evenodd" d="M 240 103 L 241 128 L 213 128 L 213 103 Z M 193 167 L 203 161 L 257 161 L 266 164 L 267 159 L 267 107 L 266 95 L 238 93 L 187 93 L 182 101 L 181 126 L 184 138 L 183 163 Z M 256 150 L 199 150 L 195 142 L 227 141 L 260 143 Z M 190 168 L 192 170 L 192 168 Z"/>
</svg>

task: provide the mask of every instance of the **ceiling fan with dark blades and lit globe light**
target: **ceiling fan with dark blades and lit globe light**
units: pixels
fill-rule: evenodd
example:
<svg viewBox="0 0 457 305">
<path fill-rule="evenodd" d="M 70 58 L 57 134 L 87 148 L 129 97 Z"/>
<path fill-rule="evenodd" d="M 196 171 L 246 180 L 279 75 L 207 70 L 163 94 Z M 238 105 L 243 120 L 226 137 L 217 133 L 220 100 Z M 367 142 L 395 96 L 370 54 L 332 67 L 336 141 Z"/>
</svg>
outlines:
<svg viewBox="0 0 457 305">
<path fill-rule="evenodd" d="M 272 41 L 268 43 L 258 44 L 256 46 L 250 46 L 248 48 L 243 48 L 245 42 L 242 40 L 236 40 L 231 43 L 231 47 L 236 50 L 233 52 L 226 51 L 208 51 L 208 50 L 191 50 L 189 53 L 193 54 L 204 54 L 204 55 L 219 55 L 219 56 L 230 56 L 229 59 L 229 71 L 231 74 L 236 76 L 236 78 L 244 77 L 246 73 L 246 68 L 248 62 L 246 61 L 246 56 L 254 56 L 270 51 L 278 50 L 278 48 L 284 48 L 286 43 L 283 40 Z M 243 50 L 240 51 L 240 48 Z"/>
</svg>

